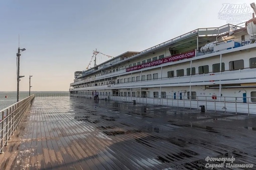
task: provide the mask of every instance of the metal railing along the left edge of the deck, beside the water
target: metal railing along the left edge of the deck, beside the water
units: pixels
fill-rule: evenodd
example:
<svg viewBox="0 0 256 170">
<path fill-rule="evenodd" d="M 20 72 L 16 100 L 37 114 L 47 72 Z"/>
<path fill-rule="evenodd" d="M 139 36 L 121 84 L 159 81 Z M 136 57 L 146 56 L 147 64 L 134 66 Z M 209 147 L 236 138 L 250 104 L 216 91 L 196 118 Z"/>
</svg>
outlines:
<svg viewBox="0 0 256 170">
<path fill-rule="evenodd" d="M 0 153 L 4 152 L 4 146 L 20 125 L 24 113 L 30 108 L 35 95 L 30 95 L 15 104 L 0 110 Z"/>
</svg>

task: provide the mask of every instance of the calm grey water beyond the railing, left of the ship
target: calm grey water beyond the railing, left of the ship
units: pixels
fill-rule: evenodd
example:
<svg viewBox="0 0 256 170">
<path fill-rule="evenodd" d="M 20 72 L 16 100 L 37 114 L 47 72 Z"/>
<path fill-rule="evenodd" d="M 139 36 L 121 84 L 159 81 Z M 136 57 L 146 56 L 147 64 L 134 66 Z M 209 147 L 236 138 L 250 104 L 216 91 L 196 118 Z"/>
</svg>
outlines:
<svg viewBox="0 0 256 170">
<path fill-rule="evenodd" d="M 31 94 L 36 93 L 69 93 L 69 91 L 31 91 Z M 6 97 L 7 96 L 7 97 Z M 19 100 L 22 100 L 29 96 L 29 91 L 20 91 Z M 17 91 L 0 91 L 0 110 L 17 102 Z"/>
</svg>

